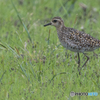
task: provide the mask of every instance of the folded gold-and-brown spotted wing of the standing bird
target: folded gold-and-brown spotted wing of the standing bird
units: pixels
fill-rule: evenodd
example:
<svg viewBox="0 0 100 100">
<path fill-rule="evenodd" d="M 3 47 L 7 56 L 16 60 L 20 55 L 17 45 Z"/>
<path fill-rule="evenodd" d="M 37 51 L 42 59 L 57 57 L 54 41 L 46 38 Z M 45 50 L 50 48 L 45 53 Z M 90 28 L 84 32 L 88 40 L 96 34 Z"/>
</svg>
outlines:
<svg viewBox="0 0 100 100">
<path fill-rule="evenodd" d="M 73 28 L 67 29 L 66 38 L 69 39 L 73 44 L 78 46 L 98 47 L 100 46 L 100 40 L 93 38 L 89 34 L 82 31 L 75 30 Z"/>
</svg>

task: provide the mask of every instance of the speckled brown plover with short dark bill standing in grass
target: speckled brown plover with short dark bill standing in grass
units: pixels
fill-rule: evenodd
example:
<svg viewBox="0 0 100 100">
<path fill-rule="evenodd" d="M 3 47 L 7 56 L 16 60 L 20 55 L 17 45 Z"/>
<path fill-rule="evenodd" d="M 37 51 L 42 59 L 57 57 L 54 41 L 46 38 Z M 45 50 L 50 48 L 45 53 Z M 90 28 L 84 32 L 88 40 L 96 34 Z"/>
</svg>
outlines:
<svg viewBox="0 0 100 100">
<path fill-rule="evenodd" d="M 49 25 L 56 27 L 57 35 L 62 46 L 64 46 L 67 50 L 77 53 L 78 71 L 79 75 L 81 75 L 81 69 L 86 65 L 89 60 L 89 57 L 86 55 L 86 52 L 98 49 L 100 47 L 100 40 L 92 37 L 91 35 L 83 31 L 66 27 L 61 17 L 52 18 L 52 20 L 48 24 L 45 24 L 44 27 Z M 81 68 L 80 53 L 83 53 L 84 56 L 87 58 Z"/>
</svg>

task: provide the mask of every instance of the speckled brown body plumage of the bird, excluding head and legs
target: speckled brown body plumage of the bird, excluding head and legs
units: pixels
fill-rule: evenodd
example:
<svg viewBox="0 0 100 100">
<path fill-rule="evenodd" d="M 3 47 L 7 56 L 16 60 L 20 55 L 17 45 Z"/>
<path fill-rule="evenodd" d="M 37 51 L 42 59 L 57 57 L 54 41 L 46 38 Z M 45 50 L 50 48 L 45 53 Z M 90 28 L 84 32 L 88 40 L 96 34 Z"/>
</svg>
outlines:
<svg viewBox="0 0 100 100">
<path fill-rule="evenodd" d="M 88 52 L 100 47 L 100 40 L 73 28 L 64 26 L 57 29 L 57 33 L 61 44 L 74 52 Z"/>
</svg>

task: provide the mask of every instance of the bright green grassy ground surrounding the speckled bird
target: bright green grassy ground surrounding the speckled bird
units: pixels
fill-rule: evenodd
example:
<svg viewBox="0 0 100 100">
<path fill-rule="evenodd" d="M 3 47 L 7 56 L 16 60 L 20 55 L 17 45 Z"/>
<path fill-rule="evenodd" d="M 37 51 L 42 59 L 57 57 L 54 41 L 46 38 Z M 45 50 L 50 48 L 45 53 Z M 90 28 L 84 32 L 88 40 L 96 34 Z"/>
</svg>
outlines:
<svg viewBox="0 0 100 100">
<path fill-rule="evenodd" d="M 77 54 L 59 45 L 54 27 L 43 27 L 60 16 L 65 26 L 100 39 L 100 0 L 13 3 L 0 0 L 0 100 L 100 100 L 100 50 L 88 53 L 77 76 Z M 81 66 L 85 60 L 81 54 Z M 71 97 L 71 91 L 98 96 Z"/>
</svg>

